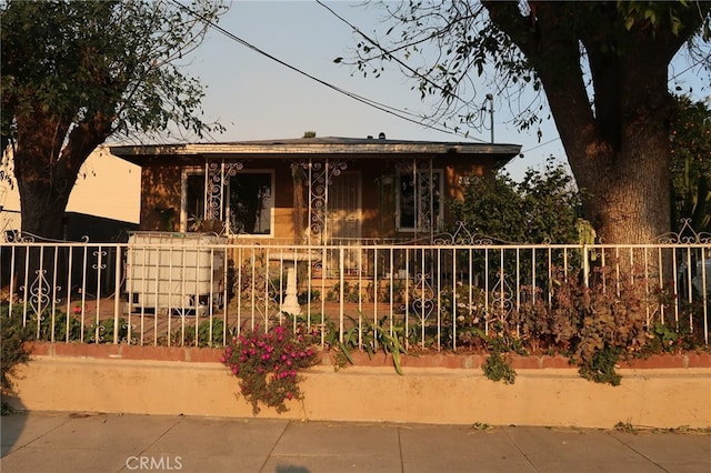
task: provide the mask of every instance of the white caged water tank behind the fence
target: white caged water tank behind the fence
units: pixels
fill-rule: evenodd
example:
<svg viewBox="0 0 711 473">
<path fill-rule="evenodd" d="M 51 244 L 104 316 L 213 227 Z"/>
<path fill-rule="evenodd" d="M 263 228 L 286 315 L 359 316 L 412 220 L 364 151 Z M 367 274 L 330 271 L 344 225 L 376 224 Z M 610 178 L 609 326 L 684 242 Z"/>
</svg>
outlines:
<svg viewBox="0 0 711 473">
<path fill-rule="evenodd" d="M 127 292 L 131 310 L 204 313 L 224 288 L 227 239 L 214 233 L 129 234 Z"/>
</svg>

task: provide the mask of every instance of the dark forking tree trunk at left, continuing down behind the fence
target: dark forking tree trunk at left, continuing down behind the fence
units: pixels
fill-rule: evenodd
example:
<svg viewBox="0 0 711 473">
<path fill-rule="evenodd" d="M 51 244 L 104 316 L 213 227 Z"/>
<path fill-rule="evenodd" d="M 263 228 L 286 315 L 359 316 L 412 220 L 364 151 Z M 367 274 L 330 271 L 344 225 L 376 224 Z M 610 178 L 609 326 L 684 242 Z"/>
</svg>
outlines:
<svg viewBox="0 0 711 473">
<path fill-rule="evenodd" d="M 13 147 L 21 232 L 32 240 L 63 240 L 64 211 L 77 175 L 89 154 L 108 137 L 110 121 L 97 114 L 93 121 L 74 125 L 64 139 L 71 122 L 46 117 L 38 110 L 32 114 L 33 120 L 18 125 Z M 41 311 L 69 293 L 66 250 L 49 245 L 19 248 L 17 258 L 17 284 L 27 291 L 36 310 Z"/>
</svg>

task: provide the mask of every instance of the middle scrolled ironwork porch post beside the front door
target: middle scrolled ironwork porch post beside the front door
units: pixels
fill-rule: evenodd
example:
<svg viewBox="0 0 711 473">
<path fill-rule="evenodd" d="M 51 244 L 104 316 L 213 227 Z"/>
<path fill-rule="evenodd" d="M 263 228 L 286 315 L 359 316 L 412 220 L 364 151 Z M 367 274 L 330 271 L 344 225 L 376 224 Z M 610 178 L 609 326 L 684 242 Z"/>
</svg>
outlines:
<svg viewBox="0 0 711 473">
<path fill-rule="evenodd" d="M 341 175 L 348 168 L 346 161 L 309 160 L 301 163 L 307 171 L 309 184 L 309 238 L 316 238 L 323 243 L 327 233 L 329 187 L 334 177 Z"/>
</svg>

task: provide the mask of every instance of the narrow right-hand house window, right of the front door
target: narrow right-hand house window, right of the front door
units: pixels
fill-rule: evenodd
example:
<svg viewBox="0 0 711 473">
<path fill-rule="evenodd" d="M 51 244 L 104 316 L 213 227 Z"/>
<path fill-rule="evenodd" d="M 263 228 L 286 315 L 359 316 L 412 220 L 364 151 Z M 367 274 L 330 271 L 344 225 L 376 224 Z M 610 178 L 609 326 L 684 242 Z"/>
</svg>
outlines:
<svg viewBox="0 0 711 473">
<path fill-rule="evenodd" d="M 398 230 L 423 231 L 440 227 L 442 181 L 441 170 L 399 174 Z"/>
</svg>

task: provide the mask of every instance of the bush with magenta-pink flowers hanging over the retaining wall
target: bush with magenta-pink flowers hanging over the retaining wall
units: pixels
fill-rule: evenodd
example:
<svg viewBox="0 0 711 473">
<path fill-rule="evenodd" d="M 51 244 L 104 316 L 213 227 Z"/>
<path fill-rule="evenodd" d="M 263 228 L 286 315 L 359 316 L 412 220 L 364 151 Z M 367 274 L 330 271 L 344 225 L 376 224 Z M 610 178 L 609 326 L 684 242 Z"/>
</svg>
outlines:
<svg viewBox="0 0 711 473">
<path fill-rule="evenodd" d="M 228 343 L 220 362 L 239 378 L 240 393 L 257 415 L 260 403 L 282 413 L 288 411 L 288 400 L 302 400 L 299 371 L 316 360 L 310 335 L 277 325 L 267 333 L 259 328 L 243 331 Z"/>
</svg>

